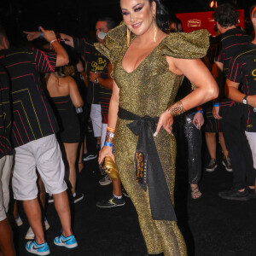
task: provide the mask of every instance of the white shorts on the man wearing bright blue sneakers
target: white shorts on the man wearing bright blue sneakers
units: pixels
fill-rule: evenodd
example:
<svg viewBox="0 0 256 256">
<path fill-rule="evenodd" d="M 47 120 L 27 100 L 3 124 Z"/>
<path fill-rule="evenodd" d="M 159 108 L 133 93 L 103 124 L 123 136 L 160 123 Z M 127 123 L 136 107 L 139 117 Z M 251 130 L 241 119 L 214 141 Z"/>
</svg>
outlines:
<svg viewBox="0 0 256 256">
<path fill-rule="evenodd" d="M 55 134 L 15 148 L 12 184 L 16 200 L 26 201 L 38 197 L 36 168 L 47 193 L 59 194 L 67 189 L 65 166 Z"/>
</svg>

